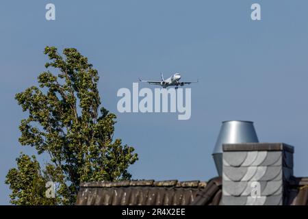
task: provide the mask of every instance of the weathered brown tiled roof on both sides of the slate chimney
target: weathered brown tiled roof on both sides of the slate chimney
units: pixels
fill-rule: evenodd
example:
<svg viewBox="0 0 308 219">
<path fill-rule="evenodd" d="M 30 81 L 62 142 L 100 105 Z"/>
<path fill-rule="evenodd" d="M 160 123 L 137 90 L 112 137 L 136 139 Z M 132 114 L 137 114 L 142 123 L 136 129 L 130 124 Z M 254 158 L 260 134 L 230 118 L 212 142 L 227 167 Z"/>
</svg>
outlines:
<svg viewBox="0 0 308 219">
<path fill-rule="evenodd" d="M 308 205 L 308 177 L 293 177 L 287 205 Z M 99 181 L 81 183 L 77 205 L 220 205 L 221 177 L 208 181 Z"/>
</svg>

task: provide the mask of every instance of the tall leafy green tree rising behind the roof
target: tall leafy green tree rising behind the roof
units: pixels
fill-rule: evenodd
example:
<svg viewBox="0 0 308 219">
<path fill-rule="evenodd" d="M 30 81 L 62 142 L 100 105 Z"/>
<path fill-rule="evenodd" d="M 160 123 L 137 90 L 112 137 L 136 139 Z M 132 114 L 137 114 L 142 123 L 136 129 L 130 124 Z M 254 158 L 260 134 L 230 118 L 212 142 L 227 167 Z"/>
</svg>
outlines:
<svg viewBox="0 0 308 219">
<path fill-rule="evenodd" d="M 21 120 L 19 142 L 35 147 L 39 155 L 47 153 L 50 162 L 41 172 L 35 158 L 33 162 L 26 155 L 17 159 L 18 169 L 11 169 L 5 181 L 16 205 L 51 204 L 45 198 L 29 197 L 37 180 L 43 188 L 47 181 L 58 183 L 55 204 L 74 204 L 81 181 L 130 179 L 127 168 L 138 159 L 133 147 L 113 140 L 116 115 L 99 108 L 99 75 L 88 59 L 76 49 L 64 49 L 64 57 L 55 47 L 46 47 L 44 53 L 50 60 L 46 68 L 57 76 L 49 70 L 40 73 L 40 88 L 27 88 L 16 94 L 16 100 L 29 114 Z M 25 185 L 19 181 L 23 175 Z"/>
</svg>

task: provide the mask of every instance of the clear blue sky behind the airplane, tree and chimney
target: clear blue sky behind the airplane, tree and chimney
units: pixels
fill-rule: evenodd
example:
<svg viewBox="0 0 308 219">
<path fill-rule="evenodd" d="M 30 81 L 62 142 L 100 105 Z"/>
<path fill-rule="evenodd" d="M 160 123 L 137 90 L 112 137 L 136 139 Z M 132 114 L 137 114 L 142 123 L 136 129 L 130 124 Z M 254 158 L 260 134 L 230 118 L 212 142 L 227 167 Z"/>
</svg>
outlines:
<svg viewBox="0 0 308 219">
<path fill-rule="evenodd" d="M 46 21 L 54 3 L 56 21 Z M 251 4 L 261 21 L 251 21 Z M 36 84 L 47 45 L 75 47 L 101 79 L 107 109 L 118 114 L 116 137 L 136 147 L 133 179 L 207 181 L 222 120 L 253 120 L 260 142 L 295 146 L 296 176 L 308 176 L 308 1 L 1 1 L 0 204 L 20 151 L 24 114 L 17 92 Z M 192 117 L 119 114 L 119 88 L 138 77 L 179 72 L 192 85 Z M 41 158 L 44 159 L 44 158 Z"/>
</svg>

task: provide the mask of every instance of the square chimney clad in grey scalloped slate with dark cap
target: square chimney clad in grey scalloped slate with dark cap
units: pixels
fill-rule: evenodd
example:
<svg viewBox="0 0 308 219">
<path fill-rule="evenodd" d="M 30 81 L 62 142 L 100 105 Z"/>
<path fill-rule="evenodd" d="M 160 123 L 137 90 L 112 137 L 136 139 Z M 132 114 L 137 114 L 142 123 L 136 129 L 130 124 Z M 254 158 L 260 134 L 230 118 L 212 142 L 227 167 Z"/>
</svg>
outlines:
<svg viewBox="0 0 308 219">
<path fill-rule="evenodd" d="M 293 146 L 223 144 L 222 151 L 222 205 L 283 205 L 293 175 Z"/>
</svg>

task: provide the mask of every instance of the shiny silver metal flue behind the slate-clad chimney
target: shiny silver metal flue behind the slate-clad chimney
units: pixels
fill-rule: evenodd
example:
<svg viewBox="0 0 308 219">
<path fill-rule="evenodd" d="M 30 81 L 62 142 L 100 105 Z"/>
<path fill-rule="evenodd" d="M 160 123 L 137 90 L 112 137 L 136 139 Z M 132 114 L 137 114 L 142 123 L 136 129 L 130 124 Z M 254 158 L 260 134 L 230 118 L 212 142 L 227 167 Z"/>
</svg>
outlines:
<svg viewBox="0 0 308 219">
<path fill-rule="evenodd" d="M 213 151 L 213 158 L 218 175 L 222 175 L 222 144 L 259 142 L 253 122 L 229 120 L 222 122 L 220 133 Z"/>
</svg>

